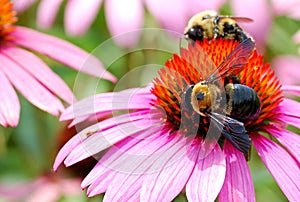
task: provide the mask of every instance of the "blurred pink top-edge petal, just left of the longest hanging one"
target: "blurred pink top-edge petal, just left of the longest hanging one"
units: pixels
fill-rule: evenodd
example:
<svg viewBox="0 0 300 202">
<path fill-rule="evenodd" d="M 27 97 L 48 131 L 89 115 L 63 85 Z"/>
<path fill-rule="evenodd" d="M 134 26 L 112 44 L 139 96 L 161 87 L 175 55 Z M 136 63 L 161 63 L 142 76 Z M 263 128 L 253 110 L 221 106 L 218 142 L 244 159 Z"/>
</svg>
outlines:
<svg viewBox="0 0 300 202">
<path fill-rule="evenodd" d="M 101 3 L 102 0 L 69 1 L 65 10 L 66 32 L 83 35 L 96 18 Z"/>
</svg>

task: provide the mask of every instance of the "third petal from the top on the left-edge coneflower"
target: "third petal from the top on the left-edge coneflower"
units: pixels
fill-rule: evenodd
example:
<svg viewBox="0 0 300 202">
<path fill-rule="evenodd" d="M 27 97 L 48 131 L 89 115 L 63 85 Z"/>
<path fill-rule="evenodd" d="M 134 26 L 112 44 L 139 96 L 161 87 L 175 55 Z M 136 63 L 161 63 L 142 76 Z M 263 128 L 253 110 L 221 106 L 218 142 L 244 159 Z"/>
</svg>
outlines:
<svg viewBox="0 0 300 202">
<path fill-rule="evenodd" d="M 24 71 L 23 65 L 19 63 L 21 61 L 13 61 L 4 55 L 0 55 L 0 60 L 3 64 L 0 70 L 33 105 L 54 116 L 64 110 L 64 106 L 55 95 Z"/>
</svg>

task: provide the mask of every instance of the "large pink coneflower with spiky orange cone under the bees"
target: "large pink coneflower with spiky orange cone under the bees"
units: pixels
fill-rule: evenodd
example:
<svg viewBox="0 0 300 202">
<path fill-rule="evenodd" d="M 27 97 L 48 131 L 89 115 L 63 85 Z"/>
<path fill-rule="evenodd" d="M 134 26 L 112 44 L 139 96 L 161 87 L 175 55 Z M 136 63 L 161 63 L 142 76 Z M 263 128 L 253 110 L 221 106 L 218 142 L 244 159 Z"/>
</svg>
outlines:
<svg viewBox="0 0 300 202">
<path fill-rule="evenodd" d="M 187 86 L 203 81 L 238 44 L 218 39 L 189 45 L 147 87 L 98 94 L 69 107 L 61 120 L 73 119 L 73 124 L 114 116 L 69 140 L 54 170 L 62 162 L 71 166 L 101 154 L 81 186 L 88 196 L 105 193 L 104 201 L 171 201 L 181 192 L 189 201 L 255 201 L 243 153 L 222 137 L 210 140 L 208 132 L 219 132 L 181 107 Z M 300 137 L 286 126 L 300 128 L 300 104 L 282 92 L 300 95 L 300 88 L 281 86 L 256 50 L 237 76 L 261 101 L 258 117 L 243 121 L 253 147 L 286 197 L 297 201 Z"/>
</svg>

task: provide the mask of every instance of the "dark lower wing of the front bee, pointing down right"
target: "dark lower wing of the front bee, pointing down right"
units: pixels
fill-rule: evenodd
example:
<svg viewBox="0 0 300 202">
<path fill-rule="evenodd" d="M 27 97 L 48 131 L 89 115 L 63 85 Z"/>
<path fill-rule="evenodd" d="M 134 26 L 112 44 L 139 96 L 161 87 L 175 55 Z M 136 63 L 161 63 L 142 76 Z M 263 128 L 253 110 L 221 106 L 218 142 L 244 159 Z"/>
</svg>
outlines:
<svg viewBox="0 0 300 202">
<path fill-rule="evenodd" d="M 242 122 L 215 112 L 212 112 L 210 117 L 212 123 L 235 148 L 243 153 L 250 149 L 251 140 Z"/>
</svg>

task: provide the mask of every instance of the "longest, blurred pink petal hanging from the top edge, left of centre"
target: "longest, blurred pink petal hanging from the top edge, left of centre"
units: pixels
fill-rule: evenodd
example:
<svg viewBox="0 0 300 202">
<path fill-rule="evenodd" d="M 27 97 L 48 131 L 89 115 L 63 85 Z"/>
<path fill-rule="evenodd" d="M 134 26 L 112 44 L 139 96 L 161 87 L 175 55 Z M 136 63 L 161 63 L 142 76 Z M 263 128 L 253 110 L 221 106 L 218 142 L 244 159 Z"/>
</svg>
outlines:
<svg viewBox="0 0 300 202">
<path fill-rule="evenodd" d="M 141 0 L 105 1 L 107 26 L 113 39 L 120 46 L 132 47 L 138 42 L 143 15 L 144 9 Z"/>
</svg>

